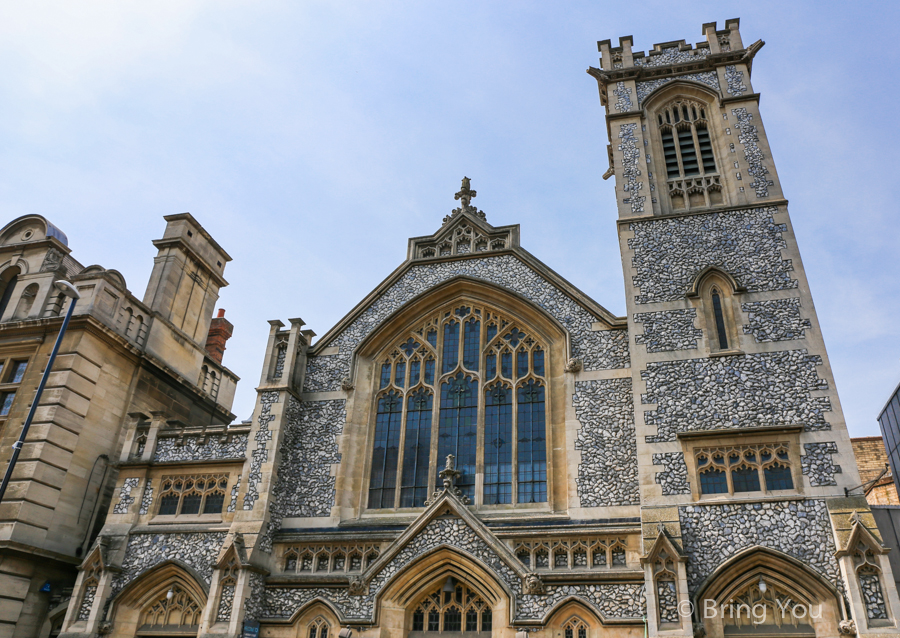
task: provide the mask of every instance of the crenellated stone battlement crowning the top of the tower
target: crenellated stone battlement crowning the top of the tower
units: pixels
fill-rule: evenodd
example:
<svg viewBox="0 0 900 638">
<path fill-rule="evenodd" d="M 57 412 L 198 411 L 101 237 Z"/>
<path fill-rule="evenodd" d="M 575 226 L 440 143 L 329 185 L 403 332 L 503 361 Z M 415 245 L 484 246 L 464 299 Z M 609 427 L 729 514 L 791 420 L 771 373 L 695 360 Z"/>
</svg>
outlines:
<svg viewBox="0 0 900 638">
<path fill-rule="evenodd" d="M 740 18 L 725 21 L 724 29 L 717 29 L 715 22 L 703 25 L 701 33 L 706 40 L 695 45 L 685 40 L 672 40 L 653 45 L 648 52 L 633 51 L 634 36 L 619 38 L 619 46 L 613 47 L 611 40 L 597 42 L 601 54 L 600 65 L 604 71 L 615 71 L 631 67 L 659 67 L 700 62 L 707 56 L 738 53 L 744 50 L 740 33 Z"/>
</svg>

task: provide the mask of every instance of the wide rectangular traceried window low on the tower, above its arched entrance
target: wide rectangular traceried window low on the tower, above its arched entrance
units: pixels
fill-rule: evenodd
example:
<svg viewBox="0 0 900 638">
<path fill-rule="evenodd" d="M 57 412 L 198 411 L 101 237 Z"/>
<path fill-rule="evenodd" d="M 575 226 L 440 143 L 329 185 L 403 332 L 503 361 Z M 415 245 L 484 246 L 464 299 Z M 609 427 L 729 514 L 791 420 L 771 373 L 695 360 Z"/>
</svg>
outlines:
<svg viewBox="0 0 900 638">
<path fill-rule="evenodd" d="M 697 448 L 694 459 L 701 494 L 794 489 L 787 443 Z"/>
</svg>

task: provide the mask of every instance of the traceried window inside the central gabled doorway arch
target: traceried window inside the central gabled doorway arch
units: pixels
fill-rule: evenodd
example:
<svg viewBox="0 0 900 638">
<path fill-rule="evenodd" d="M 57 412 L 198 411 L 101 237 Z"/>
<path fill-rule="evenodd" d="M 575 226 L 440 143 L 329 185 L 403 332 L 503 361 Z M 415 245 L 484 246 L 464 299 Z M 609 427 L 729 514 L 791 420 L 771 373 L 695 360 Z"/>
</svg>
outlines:
<svg viewBox="0 0 900 638">
<path fill-rule="evenodd" d="M 490 606 L 464 583 L 451 581 L 449 586 L 439 586 L 416 605 L 412 614 L 413 631 L 477 633 L 492 628 Z"/>
</svg>

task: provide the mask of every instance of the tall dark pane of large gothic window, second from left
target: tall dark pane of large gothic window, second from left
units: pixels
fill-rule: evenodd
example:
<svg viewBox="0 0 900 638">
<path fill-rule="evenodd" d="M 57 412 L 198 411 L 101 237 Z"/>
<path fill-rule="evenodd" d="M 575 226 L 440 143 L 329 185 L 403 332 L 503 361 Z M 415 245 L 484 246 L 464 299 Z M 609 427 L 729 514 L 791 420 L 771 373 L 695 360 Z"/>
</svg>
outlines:
<svg viewBox="0 0 900 638">
<path fill-rule="evenodd" d="M 421 507 L 428 498 L 432 404 L 432 394 L 425 390 L 419 390 L 407 399 L 400 507 Z"/>
</svg>

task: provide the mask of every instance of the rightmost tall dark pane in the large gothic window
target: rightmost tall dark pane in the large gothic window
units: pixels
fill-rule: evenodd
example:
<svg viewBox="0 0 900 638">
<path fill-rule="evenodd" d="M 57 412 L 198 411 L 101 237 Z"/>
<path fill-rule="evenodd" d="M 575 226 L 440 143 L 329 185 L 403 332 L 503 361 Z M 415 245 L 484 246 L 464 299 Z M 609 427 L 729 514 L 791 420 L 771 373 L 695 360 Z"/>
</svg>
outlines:
<svg viewBox="0 0 900 638">
<path fill-rule="evenodd" d="M 516 419 L 519 503 L 547 501 L 547 442 L 544 387 L 529 381 L 518 391 Z"/>
</svg>

